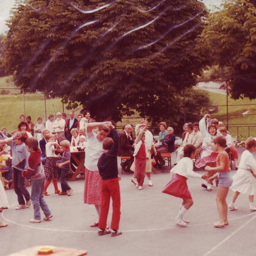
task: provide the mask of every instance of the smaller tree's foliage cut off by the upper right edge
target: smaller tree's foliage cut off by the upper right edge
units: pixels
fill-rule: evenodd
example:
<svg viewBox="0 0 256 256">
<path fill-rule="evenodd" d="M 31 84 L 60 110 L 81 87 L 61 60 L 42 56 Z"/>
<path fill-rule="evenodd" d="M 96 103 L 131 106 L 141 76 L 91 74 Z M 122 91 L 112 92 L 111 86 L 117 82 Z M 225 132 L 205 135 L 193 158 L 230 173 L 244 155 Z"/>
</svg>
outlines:
<svg viewBox="0 0 256 256">
<path fill-rule="evenodd" d="M 197 50 L 225 70 L 232 98 L 256 98 L 255 0 L 227 0 L 211 13 Z"/>
</svg>

